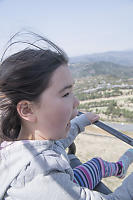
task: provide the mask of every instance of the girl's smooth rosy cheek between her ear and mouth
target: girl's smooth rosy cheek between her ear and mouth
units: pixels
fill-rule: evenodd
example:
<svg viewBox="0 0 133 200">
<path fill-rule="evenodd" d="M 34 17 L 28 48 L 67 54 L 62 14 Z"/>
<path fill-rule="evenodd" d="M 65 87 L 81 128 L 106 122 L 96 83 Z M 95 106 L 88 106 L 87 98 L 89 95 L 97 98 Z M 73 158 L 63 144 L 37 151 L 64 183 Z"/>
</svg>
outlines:
<svg viewBox="0 0 133 200">
<path fill-rule="evenodd" d="M 53 131 L 53 134 L 58 134 L 64 131 L 67 123 L 73 115 L 73 104 L 68 99 L 56 99 L 49 101 L 47 107 L 43 106 L 40 116 L 41 126 L 46 128 L 47 131 Z"/>
</svg>

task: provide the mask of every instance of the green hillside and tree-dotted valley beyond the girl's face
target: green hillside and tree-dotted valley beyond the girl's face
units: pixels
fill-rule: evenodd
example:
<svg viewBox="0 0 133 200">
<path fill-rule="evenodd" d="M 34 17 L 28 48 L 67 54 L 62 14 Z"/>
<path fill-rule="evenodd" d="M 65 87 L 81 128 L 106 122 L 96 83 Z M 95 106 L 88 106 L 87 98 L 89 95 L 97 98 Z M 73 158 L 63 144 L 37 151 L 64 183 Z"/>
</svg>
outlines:
<svg viewBox="0 0 133 200">
<path fill-rule="evenodd" d="M 73 63 L 70 69 L 79 110 L 94 111 L 102 120 L 133 122 L 133 67 L 100 61 Z"/>
</svg>

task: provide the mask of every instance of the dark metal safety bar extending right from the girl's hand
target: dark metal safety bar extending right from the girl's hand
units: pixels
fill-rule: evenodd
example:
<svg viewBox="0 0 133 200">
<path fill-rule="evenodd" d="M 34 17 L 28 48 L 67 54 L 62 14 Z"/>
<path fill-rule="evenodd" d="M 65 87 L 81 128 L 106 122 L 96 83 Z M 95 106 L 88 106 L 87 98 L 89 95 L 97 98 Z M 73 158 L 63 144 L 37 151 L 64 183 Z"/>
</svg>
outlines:
<svg viewBox="0 0 133 200">
<path fill-rule="evenodd" d="M 78 115 L 84 114 L 82 112 L 79 112 Z M 99 128 L 107 131 L 108 133 L 110 133 L 111 135 L 114 135 L 115 137 L 119 138 L 120 140 L 122 140 L 123 142 L 133 146 L 133 139 L 123 133 L 121 133 L 120 131 L 117 131 L 116 129 L 104 124 L 101 121 L 96 121 L 93 123 L 94 125 L 98 126 Z"/>
</svg>

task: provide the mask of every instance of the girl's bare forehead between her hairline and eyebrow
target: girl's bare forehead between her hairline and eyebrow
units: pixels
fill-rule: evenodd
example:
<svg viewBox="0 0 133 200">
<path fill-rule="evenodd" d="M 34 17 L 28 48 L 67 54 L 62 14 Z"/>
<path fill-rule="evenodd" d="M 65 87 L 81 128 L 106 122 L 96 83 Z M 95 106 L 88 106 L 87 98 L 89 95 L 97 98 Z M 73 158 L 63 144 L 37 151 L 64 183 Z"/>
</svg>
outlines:
<svg viewBox="0 0 133 200">
<path fill-rule="evenodd" d="M 58 67 L 51 77 L 51 85 L 59 84 L 65 86 L 73 84 L 73 82 L 74 80 L 68 65 Z"/>
</svg>

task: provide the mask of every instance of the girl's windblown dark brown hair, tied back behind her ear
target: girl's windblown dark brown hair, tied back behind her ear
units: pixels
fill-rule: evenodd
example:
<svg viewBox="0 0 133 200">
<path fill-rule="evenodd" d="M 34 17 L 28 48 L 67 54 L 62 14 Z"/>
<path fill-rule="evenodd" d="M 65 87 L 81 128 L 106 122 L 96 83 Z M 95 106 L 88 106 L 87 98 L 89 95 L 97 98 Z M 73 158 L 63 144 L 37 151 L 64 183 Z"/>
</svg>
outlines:
<svg viewBox="0 0 133 200">
<path fill-rule="evenodd" d="M 28 48 L 9 56 L 0 65 L 1 138 L 6 140 L 14 140 L 19 135 L 21 120 L 17 104 L 21 100 L 36 101 L 49 86 L 53 72 L 68 63 L 66 54 L 58 46 L 42 36 L 35 36 L 53 50 L 25 42 Z"/>
</svg>

